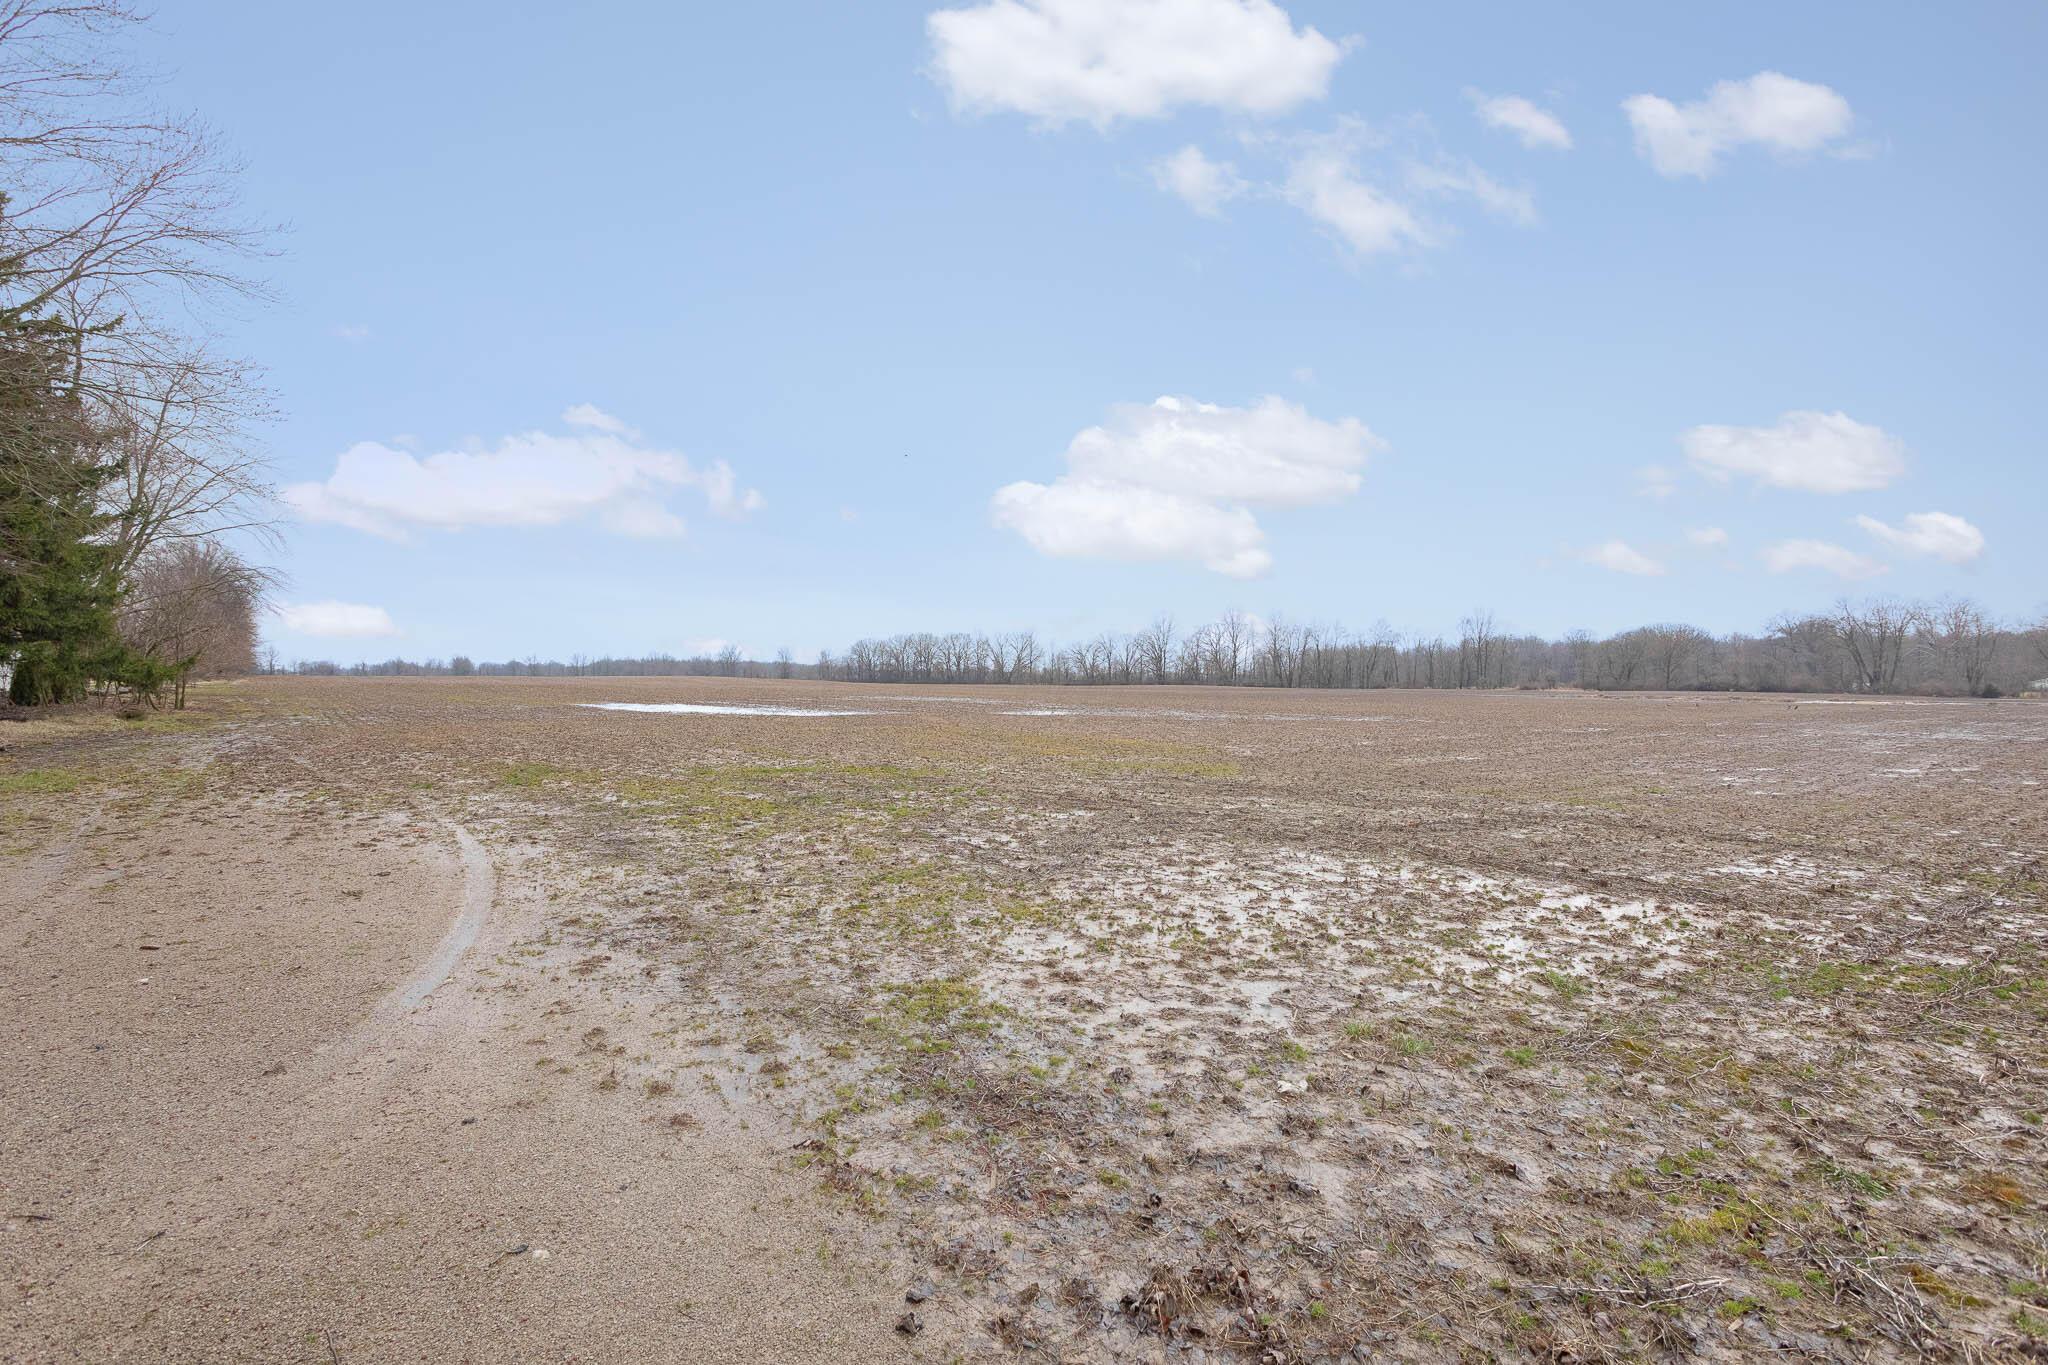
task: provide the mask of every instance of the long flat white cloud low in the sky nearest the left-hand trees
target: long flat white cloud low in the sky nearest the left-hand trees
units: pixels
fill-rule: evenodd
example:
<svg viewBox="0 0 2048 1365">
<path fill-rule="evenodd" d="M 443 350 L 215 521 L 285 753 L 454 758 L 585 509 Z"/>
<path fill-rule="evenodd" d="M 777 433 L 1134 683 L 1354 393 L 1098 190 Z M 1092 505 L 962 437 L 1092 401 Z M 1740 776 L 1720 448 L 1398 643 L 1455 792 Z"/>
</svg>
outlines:
<svg viewBox="0 0 2048 1365">
<path fill-rule="evenodd" d="M 575 430 L 522 432 L 485 450 L 428 456 L 365 440 L 336 458 L 328 479 L 289 485 L 285 501 L 309 522 L 391 538 L 420 526 L 559 526 L 580 518 L 623 536 L 678 536 L 682 518 L 662 499 L 692 487 L 719 516 L 762 505 L 725 460 L 700 467 L 649 448 L 639 432 L 588 403 L 567 409 L 563 422 Z"/>
</svg>

